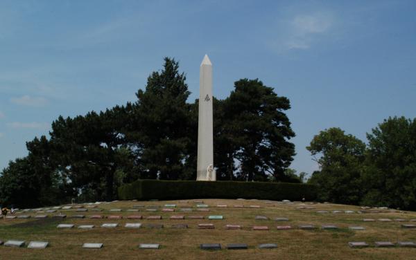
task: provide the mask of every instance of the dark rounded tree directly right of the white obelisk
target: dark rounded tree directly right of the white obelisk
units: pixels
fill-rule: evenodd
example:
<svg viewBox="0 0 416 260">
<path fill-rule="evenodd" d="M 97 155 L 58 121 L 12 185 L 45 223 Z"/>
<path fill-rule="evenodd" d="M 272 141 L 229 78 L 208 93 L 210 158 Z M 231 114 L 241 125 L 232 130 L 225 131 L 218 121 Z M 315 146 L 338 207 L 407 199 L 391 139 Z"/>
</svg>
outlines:
<svg viewBox="0 0 416 260">
<path fill-rule="evenodd" d="M 259 80 L 239 80 L 234 88 L 224 100 L 219 133 L 230 145 L 224 155 L 227 171 L 236 167 L 240 180 L 268 180 L 269 175 L 284 180 L 284 169 L 295 155 L 295 146 L 288 142 L 295 133 L 284 113 L 291 107 L 289 100 Z"/>
</svg>

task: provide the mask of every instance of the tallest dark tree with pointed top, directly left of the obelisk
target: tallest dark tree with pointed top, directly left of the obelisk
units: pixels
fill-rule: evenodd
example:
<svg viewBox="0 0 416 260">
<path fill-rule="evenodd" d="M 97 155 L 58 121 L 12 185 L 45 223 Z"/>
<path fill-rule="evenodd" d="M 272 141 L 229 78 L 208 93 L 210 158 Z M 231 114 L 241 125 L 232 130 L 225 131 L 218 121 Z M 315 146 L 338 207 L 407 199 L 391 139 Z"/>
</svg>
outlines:
<svg viewBox="0 0 416 260">
<path fill-rule="evenodd" d="M 164 68 L 148 77 L 146 90 L 137 92 L 128 138 L 137 148 L 141 178 L 177 180 L 195 176 L 187 170 L 193 129 L 188 86 L 175 59 L 166 57 Z"/>
</svg>

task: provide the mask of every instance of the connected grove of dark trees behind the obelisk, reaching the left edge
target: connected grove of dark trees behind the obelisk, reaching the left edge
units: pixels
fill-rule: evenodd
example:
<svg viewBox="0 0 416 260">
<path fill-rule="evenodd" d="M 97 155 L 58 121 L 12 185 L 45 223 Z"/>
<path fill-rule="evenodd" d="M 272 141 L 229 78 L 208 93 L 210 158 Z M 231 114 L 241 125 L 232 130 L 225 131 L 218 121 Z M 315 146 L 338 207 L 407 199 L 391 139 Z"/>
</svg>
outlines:
<svg viewBox="0 0 416 260">
<path fill-rule="evenodd" d="M 188 103 L 189 95 L 179 63 L 166 57 L 137 101 L 58 117 L 50 138 L 34 138 L 28 156 L 3 169 L 0 203 L 112 200 L 119 185 L 139 178 L 194 180 L 198 100 Z M 295 155 L 288 109 L 260 80 L 239 80 L 225 100 L 214 98 L 218 180 L 298 181 L 286 171 Z"/>
</svg>

